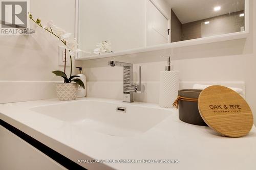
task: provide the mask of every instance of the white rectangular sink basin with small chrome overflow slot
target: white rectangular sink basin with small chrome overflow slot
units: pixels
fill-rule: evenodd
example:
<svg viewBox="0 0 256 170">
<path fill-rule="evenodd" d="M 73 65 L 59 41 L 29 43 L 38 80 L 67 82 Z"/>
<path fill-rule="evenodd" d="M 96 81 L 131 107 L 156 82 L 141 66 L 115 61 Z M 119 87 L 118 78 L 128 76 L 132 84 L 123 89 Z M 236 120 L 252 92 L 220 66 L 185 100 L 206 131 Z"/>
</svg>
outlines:
<svg viewBox="0 0 256 170">
<path fill-rule="evenodd" d="M 117 107 L 120 109 L 117 110 Z M 93 100 L 38 106 L 30 110 L 81 129 L 111 136 L 142 134 L 172 114 L 168 109 Z"/>
</svg>

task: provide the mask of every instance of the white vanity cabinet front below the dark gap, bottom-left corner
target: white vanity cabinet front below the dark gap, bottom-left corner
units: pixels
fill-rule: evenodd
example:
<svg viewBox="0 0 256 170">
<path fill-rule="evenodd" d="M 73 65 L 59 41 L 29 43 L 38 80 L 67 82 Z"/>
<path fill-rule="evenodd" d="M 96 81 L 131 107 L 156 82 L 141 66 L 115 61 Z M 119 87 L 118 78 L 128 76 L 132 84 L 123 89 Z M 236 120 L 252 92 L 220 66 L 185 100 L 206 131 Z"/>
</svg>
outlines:
<svg viewBox="0 0 256 170">
<path fill-rule="evenodd" d="M 0 169 L 66 169 L 29 143 L 0 126 Z"/>
</svg>

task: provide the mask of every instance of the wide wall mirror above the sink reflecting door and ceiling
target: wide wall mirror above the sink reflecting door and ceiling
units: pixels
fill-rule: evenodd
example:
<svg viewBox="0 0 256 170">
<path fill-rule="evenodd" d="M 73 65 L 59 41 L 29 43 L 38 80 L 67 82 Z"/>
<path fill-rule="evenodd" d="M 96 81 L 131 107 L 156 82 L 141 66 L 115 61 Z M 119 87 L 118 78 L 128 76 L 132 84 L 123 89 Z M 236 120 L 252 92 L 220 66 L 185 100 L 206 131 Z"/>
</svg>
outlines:
<svg viewBox="0 0 256 170">
<path fill-rule="evenodd" d="M 245 30 L 244 0 L 77 0 L 84 56 Z"/>
</svg>

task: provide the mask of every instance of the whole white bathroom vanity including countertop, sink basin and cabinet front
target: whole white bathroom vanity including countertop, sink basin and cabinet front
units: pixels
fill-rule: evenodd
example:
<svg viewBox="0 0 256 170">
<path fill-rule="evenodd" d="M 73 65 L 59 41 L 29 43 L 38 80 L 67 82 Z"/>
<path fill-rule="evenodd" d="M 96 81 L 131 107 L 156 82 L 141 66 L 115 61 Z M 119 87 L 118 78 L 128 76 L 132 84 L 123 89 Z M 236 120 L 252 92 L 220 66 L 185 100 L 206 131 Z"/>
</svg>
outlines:
<svg viewBox="0 0 256 170">
<path fill-rule="evenodd" d="M 67 168 L 74 165 L 76 169 L 218 169 L 220 165 L 222 169 L 253 169 L 256 166 L 254 126 L 244 137 L 223 137 L 208 127 L 183 123 L 176 109 L 163 109 L 156 104 L 96 98 L 10 103 L 0 105 L 0 119 L 0 133 L 5 134 L 1 135 L 4 138 L 1 169 L 12 161 L 17 165 L 26 163 L 31 169 L 66 169 L 65 165 Z M 16 135 L 25 138 L 20 139 L 11 131 L 22 131 Z M 24 151 L 17 152 L 17 146 L 23 146 L 19 148 Z M 15 155 L 11 154 L 12 149 Z M 76 163 L 123 159 L 179 160 L 179 163 Z"/>
</svg>

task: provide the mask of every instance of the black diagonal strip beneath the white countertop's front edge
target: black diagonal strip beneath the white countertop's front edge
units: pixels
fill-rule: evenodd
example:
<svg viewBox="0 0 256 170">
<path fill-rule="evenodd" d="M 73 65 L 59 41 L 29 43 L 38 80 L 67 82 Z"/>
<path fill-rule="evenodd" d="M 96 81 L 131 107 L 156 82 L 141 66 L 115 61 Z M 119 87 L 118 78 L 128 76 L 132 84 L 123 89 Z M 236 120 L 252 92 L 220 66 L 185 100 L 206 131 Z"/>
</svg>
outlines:
<svg viewBox="0 0 256 170">
<path fill-rule="evenodd" d="M 0 125 L 12 132 L 13 134 L 17 135 L 18 137 L 22 138 L 33 147 L 41 151 L 42 153 L 46 154 L 62 166 L 66 167 L 67 169 L 86 169 L 79 164 L 73 162 L 69 158 L 61 155 L 60 153 L 54 151 L 53 149 L 49 148 L 47 145 L 41 143 L 40 141 L 34 139 L 33 137 L 27 135 L 26 133 L 18 130 L 17 128 L 13 127 L 12 125 L 6 123 L 4 120 L 0 119 Z M 87 169 L 86 169 L 87 170 Z"/>
</svg>

